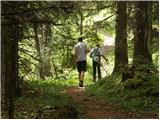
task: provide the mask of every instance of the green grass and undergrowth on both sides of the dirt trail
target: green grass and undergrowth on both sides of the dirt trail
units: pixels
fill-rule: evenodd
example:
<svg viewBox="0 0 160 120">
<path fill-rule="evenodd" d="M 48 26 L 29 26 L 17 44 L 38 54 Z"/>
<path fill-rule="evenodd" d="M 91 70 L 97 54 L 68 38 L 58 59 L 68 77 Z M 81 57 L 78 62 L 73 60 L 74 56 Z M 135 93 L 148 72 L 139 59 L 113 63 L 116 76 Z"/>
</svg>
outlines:
<svg viewBox="0 0 160 120">
<path fill-rule="evenodd" d="M 85 73 L 84 85 L 88 96 L 96 96 L 105 102 L 111 102 L 129 111 L 147 114 L 158 113 L 157 95 L 159 91 L 158 75 L 138 73 L 133 79 L 121 81 L 119 74 L 108 76 L 96 84 L 92 82 L 91 66 Z M 71 99 L 64 93 L 69 86 L 78 86 L 78 72 L 71 71 L 66 79 L 46 80 L 30 77 L 25 81 L 27 89 L 24 95 L 16 100 L 15 118 L 36 118 L 40 112 L 55 110 L 72 103 Z"/>
</svg>

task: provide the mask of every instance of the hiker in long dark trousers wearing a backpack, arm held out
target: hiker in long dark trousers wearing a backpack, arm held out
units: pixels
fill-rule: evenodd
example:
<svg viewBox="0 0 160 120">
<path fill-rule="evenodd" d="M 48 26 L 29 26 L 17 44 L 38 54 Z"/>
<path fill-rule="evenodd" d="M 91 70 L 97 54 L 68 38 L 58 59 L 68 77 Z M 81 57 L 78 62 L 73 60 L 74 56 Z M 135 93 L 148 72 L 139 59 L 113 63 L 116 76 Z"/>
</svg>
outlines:
<svg viewBox="0 0 160 120">
<path fill-rule="evenodd" d="M 90 57 L 92 58 L 93 63 L 93 81 L 96 82 L 96 71 L 98 69 L 98 80 L 101 79 L 101 57 L 103 57 L 106 61 L 108 61 L 107 58 L 102 54 L 100 45 L 97 44 L 95 48 L 91 49 Z"/>
</svg>

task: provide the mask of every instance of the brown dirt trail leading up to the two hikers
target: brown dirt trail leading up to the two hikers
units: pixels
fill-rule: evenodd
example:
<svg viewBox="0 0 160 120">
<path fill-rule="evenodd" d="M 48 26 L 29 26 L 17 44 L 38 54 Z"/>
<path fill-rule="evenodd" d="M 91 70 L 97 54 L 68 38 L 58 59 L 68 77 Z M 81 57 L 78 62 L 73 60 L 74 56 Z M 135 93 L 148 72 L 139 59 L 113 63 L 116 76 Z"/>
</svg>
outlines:
<svg viewBox="0 0 160 120">
<path fill-rule="evenodd" d="M 65 92 L 84 110 L 86 119 L 135 119 L 141 117 L 133 112 L 117 108 L 113 104 L 106 104 L 94 97 L 86 96 L 85 87 L 69 87 Z"/>
</svg>

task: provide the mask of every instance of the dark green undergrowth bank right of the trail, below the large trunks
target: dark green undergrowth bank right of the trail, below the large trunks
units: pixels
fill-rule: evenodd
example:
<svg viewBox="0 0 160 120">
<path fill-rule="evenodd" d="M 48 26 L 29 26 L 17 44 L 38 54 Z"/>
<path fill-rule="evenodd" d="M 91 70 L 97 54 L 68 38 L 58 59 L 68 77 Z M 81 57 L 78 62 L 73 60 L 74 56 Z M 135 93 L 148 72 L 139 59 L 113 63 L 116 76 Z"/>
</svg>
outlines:
<svg viewBox="0 0 160 120">
<path fill-rule="evenodd" d="M 96 96 L 129 111 L 158 113 L 158 75 L 137 73 L 134 78 L 121 81 L 122 75 L 112 75 L 86 88 L 86 94 Z"/>
</svg>

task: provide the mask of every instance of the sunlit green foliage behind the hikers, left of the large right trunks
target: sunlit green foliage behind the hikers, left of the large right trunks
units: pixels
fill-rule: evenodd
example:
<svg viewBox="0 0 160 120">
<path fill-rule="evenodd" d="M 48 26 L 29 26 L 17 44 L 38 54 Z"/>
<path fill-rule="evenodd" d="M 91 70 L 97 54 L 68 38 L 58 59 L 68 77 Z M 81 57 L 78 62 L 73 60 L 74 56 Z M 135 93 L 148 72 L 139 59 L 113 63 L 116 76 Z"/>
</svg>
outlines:
<svg viewBox="0 0 160 120">
<path fill-rule="evenodd" d="M 52 5 L 52 7 L 50 7 Z M 62 6 L 61 6 L 62 5 Z M 109 8 L 107 6 L 110 6 Z M 61 6 L 61 7 L 59 7 Z M 38 26 L 38 38 L 44 65 L 44 75 L 60 77 L 66 68 L 72 68 L 74 59 L 71 51 L 80 36 L 80 13 L 83 14 L 83 37 L 89 47 L 104 41 L 107 34 L 114 36 L 115 16 L 104 20 L 115 12 L 115 2 L 27 2 L 20 4 L 21 9 L 38 9 L 33 14 L 33 20 L 42 21 Z M 43 10 L 47 8 L 45 12 Z M 59 9 L 54 9 L 59 8 Z M 67 9 L 66 9 L 67 8 Z M 39 10 L 41 9 L 41 10 Z M 31 11 L 32 12 L 32 11 Z M 96 19 L 99 25 L 95 28 Z M 27 18 L 26 18 L 27 19 Z M 44 23 L 43 23 L 44 20 Z M 45 22 L 46 21 L 46 22 Z M 51 22 L 50 22 L 51 21 Z M 53 23 L 53 24 L 52 24 Z M 35 47 L 33 25 L 23 26 L 23 39 L 19 41 L 19 73 L 20 76 L 39 76 L 39 58 Z M 61 72 L 60 72 L 61 71 Z"/>
</svg>

